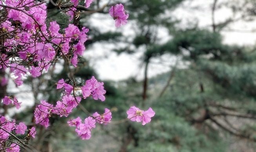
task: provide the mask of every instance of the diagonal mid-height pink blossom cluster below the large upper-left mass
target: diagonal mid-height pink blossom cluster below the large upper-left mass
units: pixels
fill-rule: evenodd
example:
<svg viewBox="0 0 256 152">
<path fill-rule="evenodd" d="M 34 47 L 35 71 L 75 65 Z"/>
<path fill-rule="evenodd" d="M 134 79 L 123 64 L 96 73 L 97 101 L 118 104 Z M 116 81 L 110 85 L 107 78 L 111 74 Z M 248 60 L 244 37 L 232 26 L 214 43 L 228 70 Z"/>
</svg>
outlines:
<svg viewBox="0 0 256 152">
<path fill-rule="evenodd" d="M 93 99 L 101 99 L 105 100 L 103 94 L 106 93 L 103 87 L 103 82 L 98 82 L 94 76 L 91 80 L 87 80 L 84 87 L 73 87 L 67 83 L 63 79 L 59 80 L 57 83 L 57 89 L 64 88 L 65 95 L 62 97 L 61 101 L 57 101 L 56 105 L 49 104 L 46 101 L 42 100 L 41 104 L 37 106 L 34 111 L 34 116 L 36 118 L 36 124 L 41 124 L 45 127 L 49 126 L 49 117 L 53 114 L 60 115 L 60 117 L 67 117 L 73 108 L 76 108 L 81 101 L 81 97 L 74 96 L 74 90 L 82 90 L 83 97 L 93 96 Z M 73 92 L 73 94 L 71 94 Z"/>
</svg>

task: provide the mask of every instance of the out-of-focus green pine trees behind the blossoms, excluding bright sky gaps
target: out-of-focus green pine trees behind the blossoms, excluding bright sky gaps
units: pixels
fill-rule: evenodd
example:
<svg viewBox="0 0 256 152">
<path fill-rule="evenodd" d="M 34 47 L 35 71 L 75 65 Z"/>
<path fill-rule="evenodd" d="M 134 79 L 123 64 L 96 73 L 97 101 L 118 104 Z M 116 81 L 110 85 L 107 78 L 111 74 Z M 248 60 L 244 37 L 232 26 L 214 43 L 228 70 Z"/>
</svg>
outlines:
<svg viewBox="0 0 256 152">
<path fill-rule="evenodd" d="M 256 148 L 256 64 L 254 46 L 223 44 L 222 31 L 234 30 L 236 21 L 253 21 L 256 2 L 253 0 L 212 0 L 212 24 L 207 28 L 193 23 L 180 27 L 172 12 L 189 0 L 129 0 L 124 5 L 135 35 L 126 37 L 122 32 L 102 32 L 89 25 L 91 14 L 107 14 L 105 3 L 95 0 L 94 10 L 85 10 L 71 23 L 89 25 L 90 39 L 87 49 L 95 42 L 123 43 L 114 49 L 118 54 L 133 55 L 142 50 L 144 77 L 115 82 L 105 81 L 106 100 L 102 107 L 93 100 L 82 101 L 86 108 L 74 112 L 74 118 L 89 115 L 96 108 L 112 108 L 113 122 L 93 131 L 89 141 L 82 141 L 72 133 L 65 118 L 52 117 L 51 127 L 38 127 L 38 138 L 31 142 L 44 152 L 222 152 L 254 151 Z M 53 2 L 57 2 L 53 0 Z M 215 12 L 230 9 L 233 16 L 217 22 Z M 64 19 L 66 18 L 66 19 Z M 49 3 L 49 21 L 68 25 L 67 16 Z M 166 30 L 170 39 L 162 43 L 160 30 Z M 153 58 L 164 55 L 176 57 L 171 71 L 148 78 L 149 64 Z M 42 75 L 30 84 L 34 99 L 42 96 L 49 103 L 58 101 L 61 92 L 55 83 L 60 78 L 68 80 L 69 73 L 63 63 L 54 67 L 58 72 Z M 53 70 L 54 71 L 54 70 Z M 80 58 L 74 69 L 76 80 L 86 80 L 96 75 L 88 59 Z M 49 79 L 50 78 L 50 79 Z M 151 124 L 127 122 L 126 110 L 136 105 L 152 107 L 156 111 Z M 146 109 L 145 109 L 146 110 Z M 14 117 L 31 122 L 34 107 Z M 83 112 L 82 112 L 83 111 Z M 5 111 L 6 112 L 6 111 Z M 118 124 L 118 125 L 117 125 Z M 61 129 L 60 129 L 61 128 Z M 100 145 L 100 146 L 99 146 Z"/>
</svg>

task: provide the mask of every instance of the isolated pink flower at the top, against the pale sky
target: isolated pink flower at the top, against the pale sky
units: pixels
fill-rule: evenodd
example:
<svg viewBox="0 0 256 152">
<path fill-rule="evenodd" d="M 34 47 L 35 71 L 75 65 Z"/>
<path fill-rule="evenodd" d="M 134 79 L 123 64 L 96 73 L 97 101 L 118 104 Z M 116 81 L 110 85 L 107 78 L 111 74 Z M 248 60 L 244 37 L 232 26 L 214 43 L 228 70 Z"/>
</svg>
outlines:
<svg viewBox="0 0 256 152">
<path fill-rule="evenodd" d="M 112 6 L 109 9 L 109 14 L 115 20 L 116 27 L 125 25 L 127 23 L 127 18 L 129 17 L 129 14 L 125 12 L 122 4 L 116 4 L 116 6 Z"/>
</svg>

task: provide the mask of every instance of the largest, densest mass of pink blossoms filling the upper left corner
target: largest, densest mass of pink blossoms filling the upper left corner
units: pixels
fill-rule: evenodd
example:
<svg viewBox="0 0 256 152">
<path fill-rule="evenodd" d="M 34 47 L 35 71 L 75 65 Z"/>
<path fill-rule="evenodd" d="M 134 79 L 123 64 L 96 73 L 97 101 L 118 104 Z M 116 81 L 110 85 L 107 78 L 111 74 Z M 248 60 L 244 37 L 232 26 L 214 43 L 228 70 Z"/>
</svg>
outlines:
<svg viewBox="0 0 256 152">
<path fill-rule="evenodd" d="M 88 28 L 79 30 L 75 25 L 69 24 L 65 32 L 60 33 L 60 26 L 56 21 L 51 22 L 47 28 L 44 2 L 23 0 L 20 3 L 6 0 L 5 4 L 0 4 L 0 7 L 7 8 L 8 14 L 6 20 L 0 23 L 0 30 L 7 33 L 4 34 L 4 51 L 0 53 L 0 69 L 9 67 L 18 86 L 22 85 L 25 74 L 40 76 L 60 56 L 77 66 L 78 57 L 85 51 Z"/>
</svg>

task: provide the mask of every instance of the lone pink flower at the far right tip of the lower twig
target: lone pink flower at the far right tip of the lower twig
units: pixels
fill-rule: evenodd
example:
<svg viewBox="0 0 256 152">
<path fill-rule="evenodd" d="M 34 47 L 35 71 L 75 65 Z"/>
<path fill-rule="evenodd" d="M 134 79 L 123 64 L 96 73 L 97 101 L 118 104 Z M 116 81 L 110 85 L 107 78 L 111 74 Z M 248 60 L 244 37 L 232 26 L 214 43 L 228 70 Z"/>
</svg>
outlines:
<svg viewBox="0 0 256 152">
<path fill-rule="evenodd" d="M 126 113 L 128 115 L 128 119 L 137 122 L 142 121 L 142 125 L 149 123 L 151 121 L 151 117 L 155 115 L 155 112 L 152 110 L 152 108 L 149 108 L 147 111 L 143 111 L 139 108 L 136 108 L 135 106 L 132 106 L 128 111 L 126 111 Z"/>
</svg>

